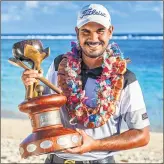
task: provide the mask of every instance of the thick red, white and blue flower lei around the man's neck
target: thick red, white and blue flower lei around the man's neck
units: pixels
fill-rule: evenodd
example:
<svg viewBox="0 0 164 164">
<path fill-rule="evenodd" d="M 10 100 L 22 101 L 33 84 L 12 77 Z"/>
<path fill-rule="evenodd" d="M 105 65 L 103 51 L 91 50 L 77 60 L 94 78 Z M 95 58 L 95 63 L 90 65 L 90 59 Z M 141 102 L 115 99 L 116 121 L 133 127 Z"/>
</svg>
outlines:
<svg viewBox="0 0 164 164">
<path fill-rule="evenodd" d="M 87 128 L 102 126 L 115 112 L 116 103 L 123 88 L 126 59 L 123 59 L 123 54 L 116 43 L 108 46 L 103 55 L 102 74 L 96 80 L 97 107 L 90 108 L 85 104 L 87 97 L 85 90 L 82 90 L 79 75 L 82 59 L 76 43 L 72 42 L 72 51 L 64 57 L 67 61 L 62 69 L 65 69 L 67 75 L 64 76 L 65 81 L 59 86 L 67 96 L 66 109 L 71 117 L 70 123 L 78 122 Z"/>
</svg>

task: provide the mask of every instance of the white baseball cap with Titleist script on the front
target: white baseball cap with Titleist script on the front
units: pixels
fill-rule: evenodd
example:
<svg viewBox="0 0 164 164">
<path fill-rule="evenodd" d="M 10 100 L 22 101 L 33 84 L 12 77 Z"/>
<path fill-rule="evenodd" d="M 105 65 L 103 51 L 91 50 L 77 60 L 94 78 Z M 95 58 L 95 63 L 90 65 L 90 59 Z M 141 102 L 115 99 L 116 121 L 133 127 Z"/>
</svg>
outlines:
<svg viewBox="0 0 164 164">
<path fill-rule="evenodd" d="M 77 27 L 80 28 L 89 22 L 96 22 L 109 28 L 111 17 L 108 10 L 100 4 L 90 4 L 81 9 L 77 18 Z"/>
</svg>

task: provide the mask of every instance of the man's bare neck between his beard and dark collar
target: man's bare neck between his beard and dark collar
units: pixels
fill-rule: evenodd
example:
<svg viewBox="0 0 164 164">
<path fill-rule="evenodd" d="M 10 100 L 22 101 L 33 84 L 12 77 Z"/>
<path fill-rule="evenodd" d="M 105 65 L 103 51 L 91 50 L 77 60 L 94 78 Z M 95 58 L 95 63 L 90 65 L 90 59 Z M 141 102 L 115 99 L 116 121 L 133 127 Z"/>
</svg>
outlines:
<svg viewBox="0 0 164 164">
<path fill-rule="evenodd" d="M 100 67 L 102 65 L 103 57 L 90 58 L 82 53 L 83 62 L 88 66 L 89 69 Z"/>
</svg>

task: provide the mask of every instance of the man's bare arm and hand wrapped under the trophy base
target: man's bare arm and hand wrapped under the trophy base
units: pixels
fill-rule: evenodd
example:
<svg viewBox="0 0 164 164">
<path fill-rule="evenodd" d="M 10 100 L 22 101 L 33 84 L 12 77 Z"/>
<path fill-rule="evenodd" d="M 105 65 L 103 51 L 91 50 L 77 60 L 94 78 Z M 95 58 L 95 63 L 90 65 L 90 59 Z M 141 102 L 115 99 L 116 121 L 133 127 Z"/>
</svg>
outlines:
<svg viewBox="0 0 164 164">
<path fill-rule="evenodd" d="M 65 152 L 83 154 L 89 151 L 118 151 L 145 146 L 149 143 L 149 127 L 143 129 L 130 129 L 119 135 L 94 140 L 83 130 L 77 129 L 83 137 L 82 146 L 67 149 Z"/>
</svg>

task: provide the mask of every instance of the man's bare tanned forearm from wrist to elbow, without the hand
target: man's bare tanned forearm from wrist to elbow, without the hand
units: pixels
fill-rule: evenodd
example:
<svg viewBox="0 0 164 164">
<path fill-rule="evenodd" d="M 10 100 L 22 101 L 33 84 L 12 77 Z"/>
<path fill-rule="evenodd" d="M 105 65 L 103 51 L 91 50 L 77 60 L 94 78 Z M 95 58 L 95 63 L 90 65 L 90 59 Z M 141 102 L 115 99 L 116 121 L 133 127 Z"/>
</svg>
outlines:
<svg viewBox="0 0 164 164">
<path fill-rule="evenodd" d="M 148 135 L 145 135 L 147 133 Z M 145 137 L 146 136 L 146 137 Z M 149 142 L 149 132 L 132 129 L 119 135 L 96 141 L 95 150 L 115 151 L 127 150 L 146 145 Z"/>
</svg>

